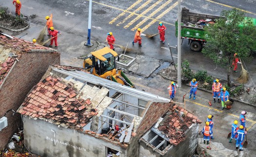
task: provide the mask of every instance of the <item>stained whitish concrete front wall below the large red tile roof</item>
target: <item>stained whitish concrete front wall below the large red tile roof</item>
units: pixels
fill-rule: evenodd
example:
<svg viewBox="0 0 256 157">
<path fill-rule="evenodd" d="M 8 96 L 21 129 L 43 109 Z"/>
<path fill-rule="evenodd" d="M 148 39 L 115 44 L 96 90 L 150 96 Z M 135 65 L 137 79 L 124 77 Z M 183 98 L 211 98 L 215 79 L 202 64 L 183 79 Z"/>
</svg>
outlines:
<svg viewBox="0 0 256 157">
<path fill-rule="evenodd" d="M 25 145 L 41 157 L 106 157 L 106 147 L 118 150 L 120 157 L 126 157 L 126 149 L 110 142 L 39 119 L 24 117 L 24 121 Z M 56 132 L 55 141 L 51 130 Z"/>
</svg>

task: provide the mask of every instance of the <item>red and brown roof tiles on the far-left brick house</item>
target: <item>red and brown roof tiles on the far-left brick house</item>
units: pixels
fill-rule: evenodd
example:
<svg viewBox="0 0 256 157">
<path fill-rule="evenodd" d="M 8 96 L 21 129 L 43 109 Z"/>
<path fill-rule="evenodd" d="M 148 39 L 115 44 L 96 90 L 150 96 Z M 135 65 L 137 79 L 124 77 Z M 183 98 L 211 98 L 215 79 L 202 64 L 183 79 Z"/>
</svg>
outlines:
<svg viewBox="0 0 256 157">
<path fill-rule="evenodd" d="M 52 50 L 52 52 L 55 52 L 55 50 L 53 49 L 49 49 L 39 44 L 33 44 L 32 42 L 19 39 L 17 37 L 13 37 L 12 39 L 10 37 L 7 37 L 6 35 L 2 35 L 1 31 L 0 31 L 0 45 L 2 45 L 6 49 L 9 49 L 9 48 L 14 49 L 15 51 L 13 53 L 17 55 L 16 56 L 17 59 L 20 58 L 20 56 L 22 55 L 22 52 L 31 52 L 31 50 L 35 50 L 35 49 Z M 13 67 L 16 61 L 16 58 L 15 57 L 0 58 L 0 60 L 3 61 L 2 63 L 0 63 L 0 85 L 3 83 L 4 78 L 7 76 L 8 72 Z"/>
</svg>

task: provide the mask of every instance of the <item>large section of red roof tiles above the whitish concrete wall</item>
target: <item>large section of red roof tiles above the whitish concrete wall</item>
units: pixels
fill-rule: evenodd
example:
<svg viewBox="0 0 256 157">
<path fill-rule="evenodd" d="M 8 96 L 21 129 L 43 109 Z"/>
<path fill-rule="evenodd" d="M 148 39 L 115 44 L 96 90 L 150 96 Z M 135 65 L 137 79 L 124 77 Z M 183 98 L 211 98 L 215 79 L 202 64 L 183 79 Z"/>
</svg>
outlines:
<svg viewBox="0 0 256 157">
<path fill-rule="evenodd" d="M 91 108 L 90 100 L 76 98 L 78 93 L 75 88 L 62 82 L 61 78 L 48 76 L 31 89 L 18 112 L 82 130 L 97 113 L 95 109 L 88 109 Z"/>
</svg>

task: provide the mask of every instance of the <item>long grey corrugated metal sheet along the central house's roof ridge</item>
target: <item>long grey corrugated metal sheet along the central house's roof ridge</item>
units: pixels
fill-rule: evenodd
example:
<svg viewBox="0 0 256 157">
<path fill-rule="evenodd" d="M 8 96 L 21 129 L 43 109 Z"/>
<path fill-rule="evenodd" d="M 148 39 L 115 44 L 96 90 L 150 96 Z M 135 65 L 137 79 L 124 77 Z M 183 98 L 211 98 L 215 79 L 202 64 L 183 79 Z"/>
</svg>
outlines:
<svg viewBox="0 0 256 157">
<path fill-rule="evenodd" d="M 55 67 L 51 67 L 52 70 L 66 74 L 68 76 L 72 76 L 74 78 L 77 78 L 79 80 L 82 81 L 86 81 L 88 83 L 91 84 L 95 84 L 95 85 L 99 85 L 99 86 L 103 86 L 109 89 L 113 89 L 115 91 L 118 91 L 120 93 L 123 94 L 127 94 L 133 97 L 136 97 L 138 99 L 142 99 L 145 101 L 158 101 L 158 102 L 169 102 L 170 100 L 167 98 L 163 98 L 160 97 L 158 95 L 152 94 L 152 93 L 148 93 L 136 88 L 131 88 L 131 87 L 127 87 L 127 86 L 123 86 L 121 84 L 118 84 L 116 82 L 107 80 L 107 79 L 103 79 L 100 78 L 98 76 L 92 75 L 90 73 L 86 73 L 83 71 L 79 71 L 79 70 L 63 70 L 63 69 L 57 69 Z"/>
</svg>

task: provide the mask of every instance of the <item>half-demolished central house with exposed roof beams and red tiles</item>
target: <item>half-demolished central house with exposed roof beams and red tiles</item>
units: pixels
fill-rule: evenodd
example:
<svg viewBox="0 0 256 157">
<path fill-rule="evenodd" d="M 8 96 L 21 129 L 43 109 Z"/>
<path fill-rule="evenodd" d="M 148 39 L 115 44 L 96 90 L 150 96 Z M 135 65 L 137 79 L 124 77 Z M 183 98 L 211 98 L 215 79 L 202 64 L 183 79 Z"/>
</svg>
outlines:
<svg viewBox="0 0 256 157">
<path fill-rule="evenodd" d="M 193 141 L 182 145 L 195 152 L 199 120 L 181 110 L 169 99 L 80 68 L 52 65 L 17 112 L 23 117 L 25 145 L 42 157 L 160 157 L 170 156 L 183 142 Z M 169 124 L 169 112 L 179 128 Z"/>
</svg>

